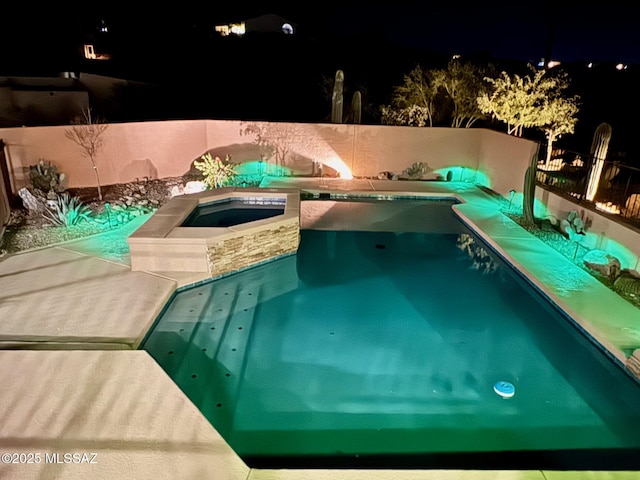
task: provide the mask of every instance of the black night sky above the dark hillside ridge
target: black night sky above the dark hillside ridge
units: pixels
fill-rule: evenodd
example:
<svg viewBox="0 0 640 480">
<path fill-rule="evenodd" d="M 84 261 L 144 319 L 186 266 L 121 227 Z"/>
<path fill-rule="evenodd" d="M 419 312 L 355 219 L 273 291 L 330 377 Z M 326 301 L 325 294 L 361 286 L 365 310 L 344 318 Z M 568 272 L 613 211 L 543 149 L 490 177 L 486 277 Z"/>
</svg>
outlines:
<svg viewBox="0 0 640 480">
<path fill-rule="evenodd" d="M 351 37 L 377 35 L 386 42 L 442 53 L 488 53 L 496 58 L 535 62 L 551 45 L 551 57 L 564 62 L 640 64 L 640 6 L 630 2 L 452 2 L 326 0 L 308 2 L 194 2 L 135 8 L 111 2 L 80 9 L 42 6 L 13 12 L 0 29 L 0 60 L 10 52 L 64 48 L 96 18 L 105 18 L 114 35 L 153 41 L 185 28 L 278 14 L 298 25 L 301 35 Z M 49 11 L 46 9 L 50 8 Z M 62 8 L 62 10 L 61 10 Z M 44 10 L 43 10 L 44 9 Z M 39 12 L 39 13 L 38 13 Z M 34 16 L 35 14 L 35 16 Z M 44 59 L 43 59 L 44 60 Z M 31 61 L 36 61 L 33 59 Z M 0 63 L 0 74 L 2 65 Z"/>
</svg>

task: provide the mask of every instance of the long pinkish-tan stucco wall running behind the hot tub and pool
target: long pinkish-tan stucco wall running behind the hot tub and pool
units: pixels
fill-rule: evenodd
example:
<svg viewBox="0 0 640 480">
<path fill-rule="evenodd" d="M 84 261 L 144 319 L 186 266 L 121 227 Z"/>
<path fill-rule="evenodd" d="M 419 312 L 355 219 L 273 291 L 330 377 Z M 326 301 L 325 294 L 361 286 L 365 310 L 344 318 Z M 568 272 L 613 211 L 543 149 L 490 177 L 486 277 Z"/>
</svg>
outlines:
<svg viewBox="0 0 640 480">
<path fill-rule="evenodd" d="M 68 187 L 96 186 L 91 163 L 66 138 L 70 126 L 0 129 L 7 145 L 12 189 L 28 185 L 28 170 L 38 160 L 65 173 Z M 234 163 L 264 162 L 264 171 L 285 167 L 292 175 L 355 176 L 400 174 L 416 162 L 432 169 L 465 167 L 465 180 L 505 194 L 520 191 L 535 143 L 486 129 L 414 128 L 380 125 L 300 124 L 189 120 L 108 124 L 97 155 L 102 185 L 136 178 L 183 175 L 193 160 L 210 151 Z M 269 170 L 269 169 L 272 170 Z M 477 177 L 477 178 L 476 178 Z"/>
</svg>

